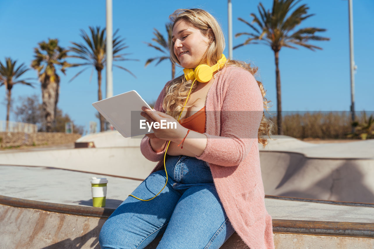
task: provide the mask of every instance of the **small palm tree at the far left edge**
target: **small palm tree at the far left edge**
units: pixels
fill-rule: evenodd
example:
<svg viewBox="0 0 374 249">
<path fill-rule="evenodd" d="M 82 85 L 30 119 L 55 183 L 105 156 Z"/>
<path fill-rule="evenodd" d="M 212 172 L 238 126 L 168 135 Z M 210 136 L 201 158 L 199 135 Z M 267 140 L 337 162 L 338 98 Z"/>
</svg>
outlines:
<svg viewBox="0 0 374 249">
<path fill-rule="evenodd" d="M 22 74 L 27 72 L 29 68 L 27 68 L 24 63 L 16 68 L 17 60 L 12 61 L 10 57 L 5 58 L 5 63 L 0 62 L 0 87 L 5 85 L 5 91 L 7 92 L 7 106 L 6 106 L 6 121 L 9 121 L 9 112 L 10 112 L 10 100 L 12 97 L 12 88 L 15 84 L 23 84 L 23 85 L 30 85 L 34 87 L 32 83 L 27 82 L 26 80 L 31 80 L 33 78 L 26 78 L 24 80 L 18 80 Z M 6 131 L 8 131 L 9 122 L 6 122 Z"/>
</svg>

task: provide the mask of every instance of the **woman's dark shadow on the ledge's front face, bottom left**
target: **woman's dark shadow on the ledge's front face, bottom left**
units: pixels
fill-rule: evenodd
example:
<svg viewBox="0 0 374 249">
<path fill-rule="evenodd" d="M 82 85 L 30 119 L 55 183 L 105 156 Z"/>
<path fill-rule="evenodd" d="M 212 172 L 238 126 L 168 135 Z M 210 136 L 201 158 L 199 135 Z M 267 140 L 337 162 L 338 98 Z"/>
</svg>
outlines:
<svg viewBox="0 0 374 249">
<path fill-rule="evenodd" d="M 77 237 L 73 240 L 72 239 L 61 240 L 53 245 L 46 246 L 42 249 L 61 249 L 61 248 L 78 249 L 78 248 L 82 248 L 83 246 L 85 248 L 100 249 L 99 233 L 104 222 L 105 222 L 104 219 L 100 219 L 99 224 L 95 228 L 93 228 L 91 231 L 89 231 L 88 233 L 83 234 L 82 236 Z M 92 238 L 95 238 L 93 242 L 91 242 L 90 245 L 85 245 Z"/>
</svg>

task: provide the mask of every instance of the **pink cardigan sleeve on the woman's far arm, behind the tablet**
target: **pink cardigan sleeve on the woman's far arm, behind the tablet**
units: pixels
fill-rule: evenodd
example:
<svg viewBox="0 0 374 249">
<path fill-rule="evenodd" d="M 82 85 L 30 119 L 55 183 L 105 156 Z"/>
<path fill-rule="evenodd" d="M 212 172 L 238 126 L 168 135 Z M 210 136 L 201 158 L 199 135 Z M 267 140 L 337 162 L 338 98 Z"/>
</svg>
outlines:
<svg viewBox="0 0 374 249">
<path fill-rule="evenodd" d="M 159 112 L 163 112 L 163 108 L 162 108 L 162 100 L 163 98 L 165 97 L 165 88 L 166 86 L 169 84 L 170 81 L 168 81 L 164 88 L 162 89 L 159 97 L 157 98 L 156 100 L 156 103 L 154 104 L 154 109 L 156 111 L 159 111 Z M 151 144 L 150 144 L 150 138 L 147 137 L 147 135 L 144 135 L 144 137 L 142 138 L 141 142 L 140 142 L 140 151 L 141 153 L 143 154 L 143 156 L 145 158 L 147 158 L 148 160 L 152 161 L 152 162 L 158 162 L 162 159 L 165 151 L 166 151 L 166 145 L 164 147 L 164 149 L 161 151 L 161 152 L 154 152 L 152 147 L 151 147 Z"/>
</svg>

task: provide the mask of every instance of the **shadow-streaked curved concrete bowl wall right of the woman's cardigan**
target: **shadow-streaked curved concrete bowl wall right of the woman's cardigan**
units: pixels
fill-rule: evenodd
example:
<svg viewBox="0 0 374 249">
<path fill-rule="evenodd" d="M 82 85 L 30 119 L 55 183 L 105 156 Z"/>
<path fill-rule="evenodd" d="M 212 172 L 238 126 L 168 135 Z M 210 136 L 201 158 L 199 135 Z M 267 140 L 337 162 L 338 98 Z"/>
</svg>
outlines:
<svg viewBox="0 0 374 249">
<path fill-rule="evenodd" d="M 260 152 L 266 194 L 374 203 L 374 160 Z"/>
</svg>

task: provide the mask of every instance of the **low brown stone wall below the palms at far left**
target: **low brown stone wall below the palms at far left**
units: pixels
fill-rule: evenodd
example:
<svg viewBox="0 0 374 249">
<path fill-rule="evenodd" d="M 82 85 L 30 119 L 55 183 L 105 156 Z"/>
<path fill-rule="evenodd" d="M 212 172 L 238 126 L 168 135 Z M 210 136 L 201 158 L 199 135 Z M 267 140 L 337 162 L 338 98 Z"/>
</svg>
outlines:
<svg viewBox="0 0 374 249">
<path fill-rule="evenodd" d="M 80 134 L 65 134 L 63 132 L 0 132 L 0 147 L 56 145 L 74 143 Z"/>
</svg>

